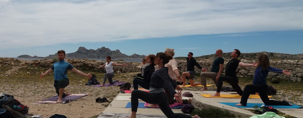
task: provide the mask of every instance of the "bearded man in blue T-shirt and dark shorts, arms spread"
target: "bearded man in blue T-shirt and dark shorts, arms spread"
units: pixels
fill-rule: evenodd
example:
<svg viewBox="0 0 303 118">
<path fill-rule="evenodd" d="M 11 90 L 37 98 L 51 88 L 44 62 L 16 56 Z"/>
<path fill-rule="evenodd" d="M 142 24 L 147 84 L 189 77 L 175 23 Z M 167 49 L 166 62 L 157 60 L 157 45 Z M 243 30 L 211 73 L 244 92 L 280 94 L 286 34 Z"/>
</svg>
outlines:
<svg viewBox="0 0 303 118">
<path fill-rule="evenodd" d="M 45 73 L 41 72 L 40 78 L 42 79 L 44 76 L 48 75 L 50 72 L 54 71 L 54 87 L 56 89 L 56 93 L 58 94 L 58 100 L 56 103 L 61 103 L 62 98 L 71 95 L 68 93 L 68 91 L 64 92 L 64 88 L 68 86 L 69 80 L 66 76 L 66 73 L 68 70 L 71 70 L 72 72 L 77 73 L 78 75 L 81 75 L 83 77 L 92 78 L 92 75 L 90 73 L 85 74 L 77 69 L 75 69 L 72 64 L 65 62 L 65 51 L 59 50 L 58 51 L 58 62 L 55 62 L 50 69 L 48 69 Z"/>
</svg>

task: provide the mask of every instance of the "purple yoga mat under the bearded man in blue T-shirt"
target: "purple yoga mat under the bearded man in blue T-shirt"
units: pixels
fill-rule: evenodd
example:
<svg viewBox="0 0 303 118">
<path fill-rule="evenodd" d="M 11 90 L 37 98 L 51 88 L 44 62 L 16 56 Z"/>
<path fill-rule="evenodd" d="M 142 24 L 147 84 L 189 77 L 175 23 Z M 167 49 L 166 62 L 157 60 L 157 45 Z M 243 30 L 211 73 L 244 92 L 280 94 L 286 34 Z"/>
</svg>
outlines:
<svg viewBox="0 0 303 118">
<path fill-rule="evenodd" d="M 72 100 L 76 100 L 76 99 L 79 99 L 79 98 L 84 97 L 84 96 L 88 96 L 88 94 L 71 94 L 71 95 L 68 95 L 68 96 L 62 98 L 62 101 L 65 101 L 65 100 L 68 100 L 68 99 L 69 99 L 69 101 L 72 101 Z M 59 97 L 58 95 L 53 96 L 53 97 L 47 98 L 45 100 L 38 101 L 38 102 L 36 102 L 36 104 L 56 103 L 56 101 L 58 100 L 58 97 Z"/>
</svg>

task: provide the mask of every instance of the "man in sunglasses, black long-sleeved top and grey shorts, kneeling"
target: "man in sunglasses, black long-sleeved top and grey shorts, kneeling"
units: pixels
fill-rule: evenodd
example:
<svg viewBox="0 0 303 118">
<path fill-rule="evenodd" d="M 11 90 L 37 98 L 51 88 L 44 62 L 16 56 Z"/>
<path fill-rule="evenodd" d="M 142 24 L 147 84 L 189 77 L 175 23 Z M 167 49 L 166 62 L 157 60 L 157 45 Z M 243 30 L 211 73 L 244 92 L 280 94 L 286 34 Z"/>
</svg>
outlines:
<svg viewBox="0 0 303 118">
<path fill-rule="evenodd" d="M 188 76 L 189 78 L 189 83 L 191 86 L 196 86 L 196 85 L 200 85 L 201 83 L 194 83 L 194 76 L 196 74 L 195 72 L 195 66 L 197 66 L 199 69 L 201 69 L 201 71 L 206 72 L 206 69 L 203 69 L 198 62 L 196 61 L 196 59 L 194 59 L 192 56 L 194 54 L 189 52 L 186 58 L 187 61 L 187 72 L 183 72 L 182 73 L 182 78 L 183 78 L 183 85 L 180 86 L 185 86 L 185 81 L 186 81 L 186 76 Z"/>
</svg>

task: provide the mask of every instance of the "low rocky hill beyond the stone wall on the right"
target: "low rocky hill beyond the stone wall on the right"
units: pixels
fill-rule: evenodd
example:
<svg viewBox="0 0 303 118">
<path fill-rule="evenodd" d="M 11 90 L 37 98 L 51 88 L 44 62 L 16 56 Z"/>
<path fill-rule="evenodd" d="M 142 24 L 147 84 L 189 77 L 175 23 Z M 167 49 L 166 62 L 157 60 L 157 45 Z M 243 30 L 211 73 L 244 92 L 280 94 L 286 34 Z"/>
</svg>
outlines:
<svg viewBox="0 0 303 118">
<path fill-rule="evenodd" d="M 258 59 L 260 54 L 266 54 L 269 59 L 271 60 L 283 60 L 283 59 L 291 59 L 291 60 L 299 60 L 303 59 L 303 54 L 291 55 L 291 54 L 282 54 L 282 53 L 268 53 L 268 52 L 259 52 L 259 53 L 241 53 L 239 59 Z M 222 53 L 222 57 L 224 59 L 231 59 L 231 52 L 230 53 Z M 216 55 L 205 55 L 205 56 L 198 56 L 194 57 L 197 60 L 203 59 L 215 59 Z M 185 60 L 186 57 L 176 57 L 177 60 Z"/>
</svg>

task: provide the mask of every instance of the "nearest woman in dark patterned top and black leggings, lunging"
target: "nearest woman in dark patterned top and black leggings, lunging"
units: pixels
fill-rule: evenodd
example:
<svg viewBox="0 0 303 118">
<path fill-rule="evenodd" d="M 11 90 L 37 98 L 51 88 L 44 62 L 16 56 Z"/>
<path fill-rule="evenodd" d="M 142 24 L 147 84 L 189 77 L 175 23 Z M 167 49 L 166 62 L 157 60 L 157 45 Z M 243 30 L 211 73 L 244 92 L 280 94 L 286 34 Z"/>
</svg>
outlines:
<svg viewBox="0 0 303 118">
<path fill-rule="evenodd" d="M 178 102 L 182 103 L 182 98 L 175 91 L 176 85 L 174 84 L 174 80 L 169 77 L 168 68 L 164 66 L 170 59 L 172 59 L 172 57 L 166 53 L 157 53 L 155 64 L 158 64 L 160 69 L 151 75 L 151 83 L 149 88 L 150 93 L 140 90 L 132 91 L 132 114 L 127 118 L 136 118 L 139 104 L 138 99 L 150 104 L 158 104 L 161 111 L 168 118 L 200 118 L 198 115 L 190 116 L 183 113 L 174 113 L 169 107 L 166 95 L 164 93 L 164 86 L 166 86 L 168 91 L 171 93 L 171 96 L 174 96 Z"/>
</svg>

